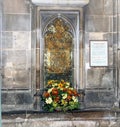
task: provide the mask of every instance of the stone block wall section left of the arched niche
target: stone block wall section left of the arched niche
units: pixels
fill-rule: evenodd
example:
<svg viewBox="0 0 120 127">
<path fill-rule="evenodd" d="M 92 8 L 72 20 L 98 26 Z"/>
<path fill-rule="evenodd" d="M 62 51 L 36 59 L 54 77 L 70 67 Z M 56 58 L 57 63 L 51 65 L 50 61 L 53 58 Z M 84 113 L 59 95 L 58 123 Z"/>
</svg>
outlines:
<svg viewBox="0 0 120 127">
<path fill-rule="evenodd" d="M 26 0 L 3 0 L 2 110 L 29 109 L 31 95 L 31 11 Z"/>
</svg>

